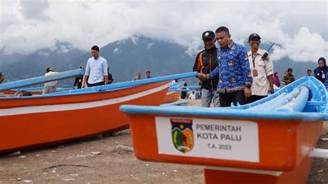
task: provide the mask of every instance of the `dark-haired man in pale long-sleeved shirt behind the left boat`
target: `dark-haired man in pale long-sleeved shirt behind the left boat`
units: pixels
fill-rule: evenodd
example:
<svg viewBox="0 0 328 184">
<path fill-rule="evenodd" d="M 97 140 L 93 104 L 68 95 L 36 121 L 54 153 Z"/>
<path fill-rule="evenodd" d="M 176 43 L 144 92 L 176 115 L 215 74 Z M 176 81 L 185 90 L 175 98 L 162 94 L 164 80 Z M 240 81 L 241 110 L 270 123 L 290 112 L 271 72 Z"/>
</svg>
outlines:
<svg viewBox="0 0 328 184">
<path fill-rule="evenodd" d="M 85 73 L 82 80 L 82 88 L 101 86 L 108 84 L 107 60 L 99 55 L 99 47 L 93 46 L 91 54 L 93 57 L 86 63 Z M 88 78 L 89 77 L 89 78 Z M 86 81 L 86 79 L 88 79 Z"/>
</svg>

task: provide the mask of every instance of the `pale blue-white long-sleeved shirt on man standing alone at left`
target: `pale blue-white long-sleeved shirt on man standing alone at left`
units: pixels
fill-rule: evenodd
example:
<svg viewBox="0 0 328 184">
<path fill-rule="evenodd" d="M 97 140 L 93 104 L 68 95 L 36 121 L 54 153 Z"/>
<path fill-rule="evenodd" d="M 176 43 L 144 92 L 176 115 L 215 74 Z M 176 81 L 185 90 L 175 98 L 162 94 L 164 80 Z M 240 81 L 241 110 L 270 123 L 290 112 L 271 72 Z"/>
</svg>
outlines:
<svg viewBox="0 0 328 184">
<path fill-rule="evenodd" d="M 103 82 L 104 75 L 108 75 L 107 67 L 107 60 L 104 57 L 99 56 L 97 59 L 94 57 L 89 58 L 84 73 L 84 75 L 89 76 L 88 83 L 95 84 Z"/>
</svg>

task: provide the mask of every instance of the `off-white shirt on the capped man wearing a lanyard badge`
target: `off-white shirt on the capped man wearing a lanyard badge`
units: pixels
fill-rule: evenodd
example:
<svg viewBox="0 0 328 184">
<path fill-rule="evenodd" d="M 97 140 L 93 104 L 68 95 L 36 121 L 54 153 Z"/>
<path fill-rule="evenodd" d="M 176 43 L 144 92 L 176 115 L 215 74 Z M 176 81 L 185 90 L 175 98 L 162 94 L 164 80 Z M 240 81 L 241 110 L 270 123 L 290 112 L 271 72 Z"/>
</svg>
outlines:
<svg viewBox="0 0 328 184">
<path fill-rule="evenodd" d="M 268 75 L 273 75 L 273 63 L 270 57 L 266 57 L 266 60 L 262 59 L 262 55 L 266 53 L 266 50 L 257 50 L 255 55 L 255 69 L 257 69 L 257 77 L 253 75 L 253 56 L 252 50 L 248 52 L 248 61 L 250 66 L 250 71 L 252 72 L 253 83 L 252 88 L 252 95 L 268 95 L 268 89 L 270 88 L 270 83 L 268 82 Z"/>
</svg>

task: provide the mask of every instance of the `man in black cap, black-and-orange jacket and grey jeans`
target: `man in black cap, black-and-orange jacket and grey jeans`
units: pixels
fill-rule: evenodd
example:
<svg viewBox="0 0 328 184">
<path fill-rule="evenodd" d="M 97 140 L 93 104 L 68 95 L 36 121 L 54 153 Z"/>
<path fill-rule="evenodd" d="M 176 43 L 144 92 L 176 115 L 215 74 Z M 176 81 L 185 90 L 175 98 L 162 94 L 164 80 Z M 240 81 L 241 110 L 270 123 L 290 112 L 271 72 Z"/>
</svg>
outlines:
<svg viewBox="0 0 328 184">
<path fill-rule="evenodd" d="M 215 47 L 215 33 L 212 30 L 206 30 L 203 35 L 204 50 L 198 53 L 194 62 L 192 71 L 208 74 L 217 67 L 217 48 Z M 218 79 L 207 80 L 201 82 L 201 106 L 210 107 L 213 102 L 213 107 L 219 107 L 219 94 L 217 93 Z"/>
</svg>

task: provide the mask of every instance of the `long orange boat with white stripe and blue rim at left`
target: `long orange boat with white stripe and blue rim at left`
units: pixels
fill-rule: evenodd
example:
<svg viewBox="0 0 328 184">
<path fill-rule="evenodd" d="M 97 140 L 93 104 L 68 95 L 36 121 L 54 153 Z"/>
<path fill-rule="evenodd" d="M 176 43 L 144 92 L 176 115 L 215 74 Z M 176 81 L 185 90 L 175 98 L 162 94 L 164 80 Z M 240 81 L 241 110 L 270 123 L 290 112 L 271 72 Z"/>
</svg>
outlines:
<svg viewBox="0 0 328 184">
<path fill-rule="evenodd" d="M 46 95 L 0 98 L 0 152 L 127 129 L 127 116 L 118 109 L 120 105 L 159 105 L 172 80 L 194 75 L 184 73 Z"/>
</svg>

